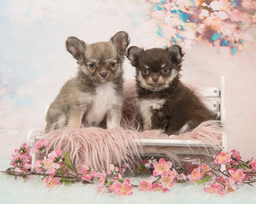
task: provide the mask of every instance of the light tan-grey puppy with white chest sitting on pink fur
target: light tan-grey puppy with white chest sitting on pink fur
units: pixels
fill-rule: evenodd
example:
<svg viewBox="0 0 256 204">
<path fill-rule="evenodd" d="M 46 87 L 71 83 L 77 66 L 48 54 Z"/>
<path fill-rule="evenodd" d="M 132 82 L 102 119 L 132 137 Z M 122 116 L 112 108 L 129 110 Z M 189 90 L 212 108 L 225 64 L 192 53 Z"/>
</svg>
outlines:
<svg viewBox="0 0 256 204">
<path fill-rule="evenodd" d="M 119 126 L 123 105 L 123 62 L 130 38 L 119 31 L 109 42 L 85 44 L 68 37 L 67 51 L 77 59 L 79 71 L 67 81 L 49 106 L 45 131 L 64 126 L 90 126 L 106 121 L 107 127 Z"/>
</svg>

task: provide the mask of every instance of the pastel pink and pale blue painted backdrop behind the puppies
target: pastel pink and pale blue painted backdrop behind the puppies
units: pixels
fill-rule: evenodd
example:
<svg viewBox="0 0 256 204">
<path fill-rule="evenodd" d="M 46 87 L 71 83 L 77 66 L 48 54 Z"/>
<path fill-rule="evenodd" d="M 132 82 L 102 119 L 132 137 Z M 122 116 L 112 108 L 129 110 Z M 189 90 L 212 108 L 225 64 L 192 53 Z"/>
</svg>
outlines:
<svg viewBox="0 0 256 204">
<path fill-rule="evenodd" d="M 9 0 L 0 1 L 0 137 L 20 144 L 44 129 L 44 108 L 76 62 L 69 36 L 106 41 L 128 31 L 131 45 L 183 46 L 183 82 L 215 87 L 226 79 L 228 150 L 256 156 L 255 1 Z M 125 77 L 134 69 L 125 61 Z M 3 154 L 3 150 L 0 153 Z"/>
</svg>

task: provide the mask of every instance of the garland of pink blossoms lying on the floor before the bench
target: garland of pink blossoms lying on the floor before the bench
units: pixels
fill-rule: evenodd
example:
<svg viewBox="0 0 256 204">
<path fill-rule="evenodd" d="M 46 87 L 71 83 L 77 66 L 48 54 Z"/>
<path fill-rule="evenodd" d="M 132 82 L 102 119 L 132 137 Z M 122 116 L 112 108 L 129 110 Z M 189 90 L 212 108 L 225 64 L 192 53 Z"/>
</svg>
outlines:
<svg viewBox="0 0 256 204">
<path fill-rule="evenodd" d="M 189 172 L 177 173 L 172 167 L 171 161 L 164 158 L 143 159 L 137 167 L 138 173 L 152 173 L 147 180 L 139 182 L 138 185 L 131 184 L 131 179 L 124 179 L 126 164 L 114 167 L 111 164 L 108 170 L 97 172 L 84 162 L 80 172 L 73 166 L 68 153 L 63 156 L 60 149 L 56 149 L 47 154 L 49 141 L 41 139 L 34 144 L 32 149 L 21 144 L 19 149 L 15 149 L 10 164 L 13 166 L 11 175 L 26 178 L 26 175 L 43 176 L 43 182 L 47 188 L 54 188 L 60 184 L 70 184 L 74 181 L 96 184 L 96 190 L 102 194 L 113 192 L 117 195 L 132 195 L 133 189 L 142 191 L 169 191 L 176 183 L 197 183 L 206 184 L 204 190 L 210 194 L 225 195 L 233 192 L 241 184 L 256 182 L 256 159 L 241 161 L 239 151 L 232 150 L 230 153 L 219 152 L 214 156 L 214 161 L 218 165 L 225 167 L 224 171 L 214 169 L 206 164 L 190 165 Z M 32 170 L 31 152 L 37 153 L 42 160 L 35 161 Z M 210 182 L 208 182 L 210 181 Z"/>
</svg>

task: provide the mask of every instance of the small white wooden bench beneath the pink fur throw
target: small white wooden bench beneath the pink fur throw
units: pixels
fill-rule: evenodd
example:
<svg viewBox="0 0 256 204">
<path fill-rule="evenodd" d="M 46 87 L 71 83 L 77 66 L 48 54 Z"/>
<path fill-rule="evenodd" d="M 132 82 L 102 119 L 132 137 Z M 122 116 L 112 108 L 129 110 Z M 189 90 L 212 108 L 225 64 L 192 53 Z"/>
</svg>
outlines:
<svg viewBox="0 0 256 204">
<path fill-rule="evenodd" d="M 67 78 L 67 80 L 70 77 Z M 207 98 L 207 107 L 218 113 L 220 116 L 221 124 L 224 127 L 225 120 L 225 108 L 224 108 L 224 77 L 221 77 L 220 88 L 204 88 L 201 90 L 203 98 Z M 49 109 L 49 105 L 45 108 L 44 116 L 46 117 L 47 111 Z M 27 140 L 29 139 L 39 139 L 38 136 L 34 137 L 34 135 L 40 135 L 42 131 L 32 129 L 28 135 Z M 222 135 L 222 143 L 216 146 L 212 146 L 212 144 L 201 142 L 200 140 L 184 140 L 178 139 L 177 135 L 170 135 L 170 137 L 176 139 L 137 139 L 135 142 L 144 147 L 170 147 L 172 149 L 173 154 L 177 156 L 209 156 L 214 154 L 214 152 L 218 152 L 219 150 L 226 151 L 226 135 Z M 27 141 L 28 142 L 28 141 Z M 31 141 L 31 143 L 34 142 Z M 29 143 L 29 142 L 28 142 Z M 220 147 L 220 148 L 219 148 Z M 155 156 L 160 157 L 164 156 L 164 153 L 149 151 L 143 154 L 143 156 Z M 213 152 L 213 153 L 212 153 Z M 33 159 L 34 160 L 34 159 Z"/>
</svg>

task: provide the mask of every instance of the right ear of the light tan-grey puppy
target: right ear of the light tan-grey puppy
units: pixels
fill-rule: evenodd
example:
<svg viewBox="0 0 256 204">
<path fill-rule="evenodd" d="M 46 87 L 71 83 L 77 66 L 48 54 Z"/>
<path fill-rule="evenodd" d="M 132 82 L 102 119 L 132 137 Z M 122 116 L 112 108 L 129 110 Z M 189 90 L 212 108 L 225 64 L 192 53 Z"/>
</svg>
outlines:
<svg viewBox="0 0 256 204">
<path fill-rule="evenodd" d="M 117 49 L 120 55 L 125 55 L 125 49 L 130 43 L 130 37 L 127 32 L 117 32 L 113 37 L 111 37 L 110 41 L 113 43 L 114 47 Z"/>
</svg>

